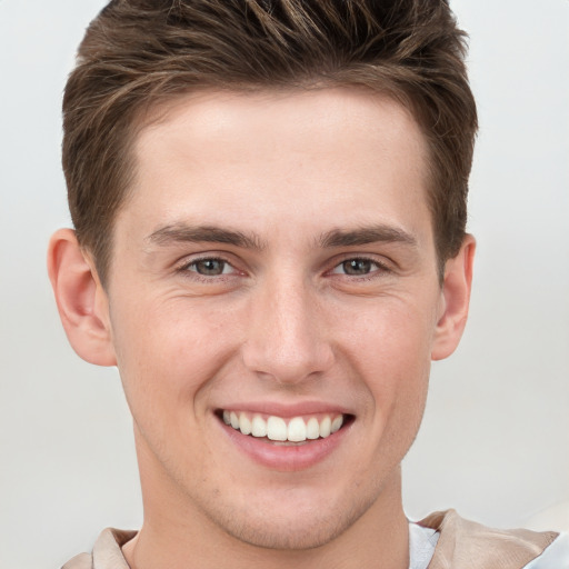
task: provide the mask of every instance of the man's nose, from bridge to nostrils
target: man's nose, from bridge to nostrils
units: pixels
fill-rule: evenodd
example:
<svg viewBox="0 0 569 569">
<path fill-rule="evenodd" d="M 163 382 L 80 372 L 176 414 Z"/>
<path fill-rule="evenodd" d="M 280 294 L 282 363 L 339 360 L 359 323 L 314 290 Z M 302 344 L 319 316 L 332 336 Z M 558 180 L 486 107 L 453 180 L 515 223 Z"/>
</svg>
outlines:
<svg viewBox="0 0 569 569">
<path fill-rule="evenodd" d="M 328 371 L 333 350 L 318 292 L 280 279 L 251 299 L 243 362 L 259 376 L 297 385 Z"/>
</svg>

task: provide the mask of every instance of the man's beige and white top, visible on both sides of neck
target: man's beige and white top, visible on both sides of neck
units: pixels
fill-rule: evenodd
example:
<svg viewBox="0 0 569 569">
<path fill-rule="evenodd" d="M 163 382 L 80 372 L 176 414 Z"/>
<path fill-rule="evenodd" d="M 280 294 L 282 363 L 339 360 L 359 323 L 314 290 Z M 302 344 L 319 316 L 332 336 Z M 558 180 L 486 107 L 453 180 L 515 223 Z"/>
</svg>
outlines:
<svg viewBox="0 0 569 569">
<path fill-rule="evenodd" d="M 106 529 L 92 553 L 61 569 L 129 569 L 121 547 L 136 531 Z M 569 569 L 569 535 L 491 529 L 455 510 L 435 512 L 411 525 L 410 569 Z"/>
</svg>

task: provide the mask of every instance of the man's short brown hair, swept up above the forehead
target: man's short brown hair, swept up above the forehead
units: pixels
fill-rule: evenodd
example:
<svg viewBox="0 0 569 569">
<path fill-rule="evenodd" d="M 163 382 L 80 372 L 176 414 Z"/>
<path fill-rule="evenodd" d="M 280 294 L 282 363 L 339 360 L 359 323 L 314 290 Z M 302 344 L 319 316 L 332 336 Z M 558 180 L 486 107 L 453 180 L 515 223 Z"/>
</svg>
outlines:
<svg viewBox="0 0 569 569">
<path fill-rule="evenodd" d="M 477 113 L 465 33 L 446 0 L 112 0 L 63 100 L 63 170 L 79 242 L 106 281 L 132 190 L 140 116 L 197 89 L 361 86 L 405 104 L 430 149 L 441 267 L 465 237 Z"/>
</svg>

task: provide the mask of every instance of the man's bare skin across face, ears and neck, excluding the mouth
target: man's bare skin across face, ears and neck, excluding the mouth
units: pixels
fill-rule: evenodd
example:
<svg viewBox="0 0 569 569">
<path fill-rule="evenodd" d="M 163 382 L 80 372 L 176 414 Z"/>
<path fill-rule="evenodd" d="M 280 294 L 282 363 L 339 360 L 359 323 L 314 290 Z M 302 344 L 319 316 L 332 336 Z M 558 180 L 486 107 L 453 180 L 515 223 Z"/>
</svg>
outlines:
<svg viewBox="0 0 569 569">
<path fill-rule="evenodd" d="M 129 565 L 408 567 L 400 462 L 430 361 L 460 339 L 475 249 L 467 237 L 441 286 L 419 127 L 353 89 L 160 110 L 106 287 L 72 231 L 49 253 L 73 348 L 118 365 L 134 419 L 144 523 Z M 219 419 L 251 406 L 350 421 L 322 459 L 269 468 Z"/>
</svg>

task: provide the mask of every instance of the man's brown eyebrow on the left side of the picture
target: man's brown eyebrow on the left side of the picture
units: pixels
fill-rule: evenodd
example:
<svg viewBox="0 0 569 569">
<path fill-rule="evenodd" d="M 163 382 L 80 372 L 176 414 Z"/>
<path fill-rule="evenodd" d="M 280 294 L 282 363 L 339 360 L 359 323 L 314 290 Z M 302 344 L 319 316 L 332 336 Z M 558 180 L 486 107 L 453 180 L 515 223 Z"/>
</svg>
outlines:
<svg viewBox="0 0 569 569">
<path fill-rule="evenodd" d="M 256 234 L 221 229 L 214 226 L 188 226 L 174 223 L 153 231 L 147 240 L 153 244 L 167 247 L 176 243 L 224 243 L 247 249 L 261 250 L 264 243 Z"/>
</svg>

